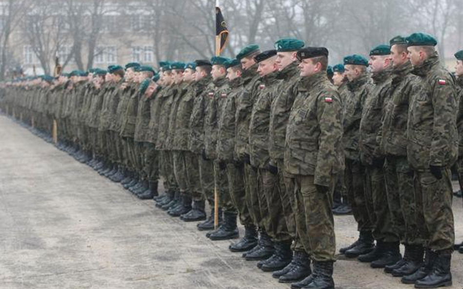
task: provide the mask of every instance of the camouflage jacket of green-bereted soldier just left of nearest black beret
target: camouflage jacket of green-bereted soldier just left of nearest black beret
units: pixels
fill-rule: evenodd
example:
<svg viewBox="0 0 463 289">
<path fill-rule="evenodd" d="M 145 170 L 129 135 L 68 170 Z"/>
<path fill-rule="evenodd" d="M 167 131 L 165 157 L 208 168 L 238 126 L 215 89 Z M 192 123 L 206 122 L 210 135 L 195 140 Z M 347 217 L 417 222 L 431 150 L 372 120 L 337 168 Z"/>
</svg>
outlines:
<svg viewBox="0 0 463 289">
<path fill-rule="evenodd" d="M 285 137 L 288 118 L 298 93 L 299 69 L 295 62 L 278 72 L 279 84 L 274 86 L 274 96 L 270 108 L 270 147 L 271 162 L 276 166 L 277 160 L 282 160 L 285 152 Z"/>
</svg>

